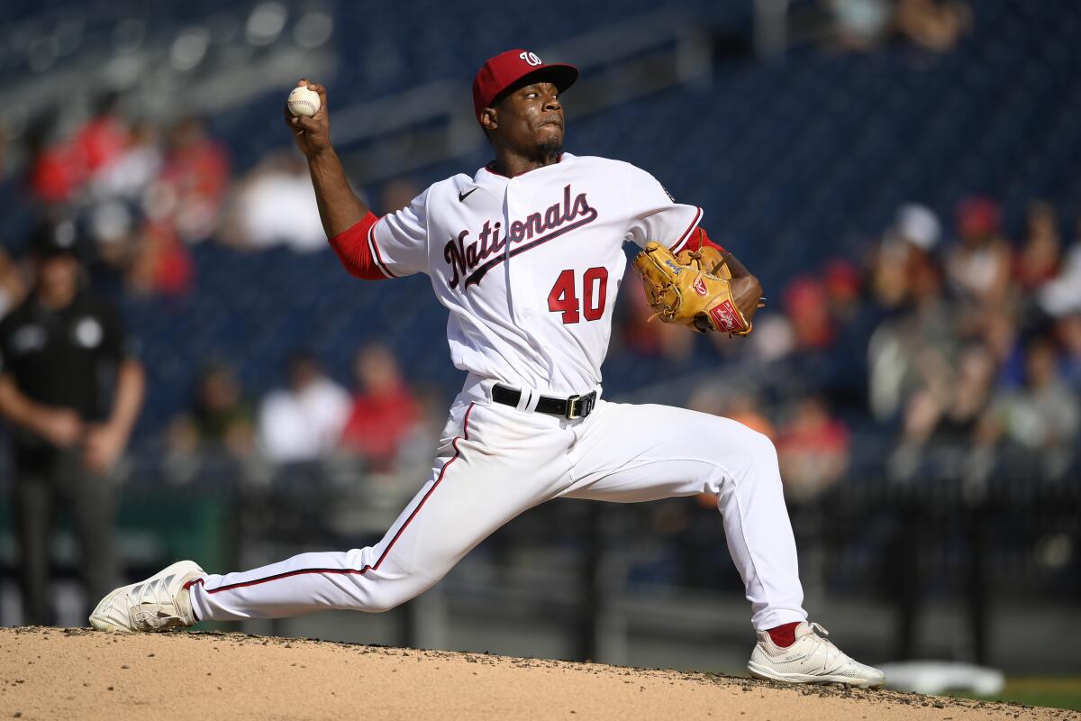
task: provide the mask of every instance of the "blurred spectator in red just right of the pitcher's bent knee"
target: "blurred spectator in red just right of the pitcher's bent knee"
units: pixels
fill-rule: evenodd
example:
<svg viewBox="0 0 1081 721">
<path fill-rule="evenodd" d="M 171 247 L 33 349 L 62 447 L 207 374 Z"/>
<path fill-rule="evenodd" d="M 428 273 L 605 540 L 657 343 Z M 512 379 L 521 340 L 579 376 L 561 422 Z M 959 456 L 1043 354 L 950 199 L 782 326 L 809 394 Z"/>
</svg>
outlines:
<svg viewBox="0 0 1081 721">
<path fill-rule="evenodd" d="M 788 496 L 812 498 L 844 475 L 849 431 L 830 417 L 823 397 L 809 396 L 797 401 L 777 432 L 777 457 Z"/>
</svg>

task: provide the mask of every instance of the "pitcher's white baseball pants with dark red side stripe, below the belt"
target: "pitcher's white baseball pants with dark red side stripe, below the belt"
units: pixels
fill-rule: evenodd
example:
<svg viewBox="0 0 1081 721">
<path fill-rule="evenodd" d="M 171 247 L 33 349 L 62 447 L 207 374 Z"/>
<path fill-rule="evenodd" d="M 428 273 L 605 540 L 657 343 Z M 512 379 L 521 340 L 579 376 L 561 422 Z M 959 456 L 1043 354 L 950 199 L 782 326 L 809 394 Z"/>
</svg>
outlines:
<svg viewBox="0 0 1081 721">
<path fill-rule="evenodd" d="M 378 544 L 208 575 L 191 586 L 191 601 L 202 620 L 386 611 L 545 500 L 631 503 L 705 491 L 719 497 L 755 628 L 805 619 L 777 454 L 765 436 L 665 405 L 599 400 L 587 418 L 568 420 L 465 392 L 451 406 L 430 480 Z"/>
</svg>

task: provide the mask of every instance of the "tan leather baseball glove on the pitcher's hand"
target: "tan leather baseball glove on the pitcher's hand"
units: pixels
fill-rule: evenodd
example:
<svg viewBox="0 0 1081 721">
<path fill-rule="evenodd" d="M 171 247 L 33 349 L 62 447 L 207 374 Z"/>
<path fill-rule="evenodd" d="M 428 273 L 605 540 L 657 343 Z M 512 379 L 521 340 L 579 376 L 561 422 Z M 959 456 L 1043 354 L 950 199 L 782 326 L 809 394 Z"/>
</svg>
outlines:
<svg viewBox="0 0 1081 721">
<path fill-rule="evenodd" d="M 659 318 L 699 333 L 750 333 L 751 321 L 732 297 L 732 273 L 716 249 L 683 251 L 677 256 L 650 241 L 635 258 L 635 269 L 642 277 L 645 298 L 655 311 L 650 320 Z"/>
</svg>

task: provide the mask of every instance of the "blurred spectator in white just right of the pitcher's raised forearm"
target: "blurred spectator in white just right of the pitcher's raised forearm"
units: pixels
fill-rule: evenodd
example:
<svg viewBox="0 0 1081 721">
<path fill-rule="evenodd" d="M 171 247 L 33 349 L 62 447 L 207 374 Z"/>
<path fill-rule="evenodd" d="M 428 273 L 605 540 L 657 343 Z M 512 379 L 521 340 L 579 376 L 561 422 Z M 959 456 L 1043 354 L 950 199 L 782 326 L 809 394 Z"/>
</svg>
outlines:
<svg viewBox="0 0 1081 721">
<path fill-rule="evenodd" d="M 252 171 L 237 191 L 230 215 L 226 240 L 232 244 L 289 245 L 296 251 L 328 248 L 307 165 L 290 150 L 267 156 Z"/>
</svg>

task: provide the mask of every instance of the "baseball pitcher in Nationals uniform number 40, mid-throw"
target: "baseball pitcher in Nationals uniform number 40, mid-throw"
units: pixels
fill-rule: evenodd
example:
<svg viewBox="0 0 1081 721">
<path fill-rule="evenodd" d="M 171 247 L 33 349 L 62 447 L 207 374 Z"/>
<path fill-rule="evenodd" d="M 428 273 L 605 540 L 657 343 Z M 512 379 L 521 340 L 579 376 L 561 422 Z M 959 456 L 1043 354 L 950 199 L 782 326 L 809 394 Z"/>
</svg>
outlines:
<svg viewBox="0 0 1081 721">
<path fill-rule="evenodd" d="M 758 280 L 629 163 L 562 152 L 562 93 L 575 67 L 511 50 L 472 84 L 494 160 L 430 186 L 376 217 L 352 192 L 331 145 L 325 89 L 311 117 L 286 112 L 311 171 L 323 227 L 364 280 L 425 273 L 446 307 L 451 359 L 468 372 L 431 476 L 369 548 L 302 553 L 262 569 L 208 574 L 181 561 L 106 596 L 90 622 L 154 631 L 199 620 L 277 618 L 320 609 L 386 611 L 424 592 L 477 544 L 558 497 L 632 503 L 716 494 L 758 643 L 755 676 L 878 686 L 808 622 L 777 454 L 722 417 L 602 397 L 601 363 L 624 276 L 623 245 L 656 317 L 689 332 L 751 331 Z"/>
</svg>

